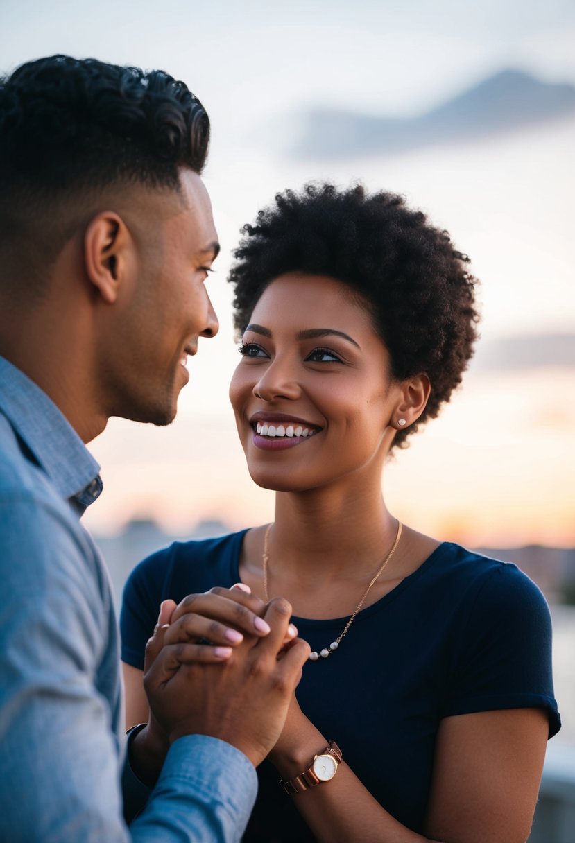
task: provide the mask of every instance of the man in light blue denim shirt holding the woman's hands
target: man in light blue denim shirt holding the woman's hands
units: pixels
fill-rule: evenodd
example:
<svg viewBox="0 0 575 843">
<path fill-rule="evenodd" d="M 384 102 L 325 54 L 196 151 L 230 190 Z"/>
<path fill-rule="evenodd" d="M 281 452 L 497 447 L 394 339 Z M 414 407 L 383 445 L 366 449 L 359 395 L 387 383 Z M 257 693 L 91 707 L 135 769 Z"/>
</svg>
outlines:
<svg viewBox="0 0 575 843">
<path fill-rule="evenodd" d="M 136 804 L 157 783 L 128 830 L 116 618 L 79 522 L 101 491 L 84 443 L 110 416 L 172 421 L 187 358 L 218 330 L 208 137 L 163 72 L 53 56 L 0 80 L 3 840 L 237 840 L 309 652 L 282 647 L 282 600 L 163 604 L 123 775 Z M 205 616 L 213 642 L 235 631 L 228 647 L 202 642 Z"/>
</svg>

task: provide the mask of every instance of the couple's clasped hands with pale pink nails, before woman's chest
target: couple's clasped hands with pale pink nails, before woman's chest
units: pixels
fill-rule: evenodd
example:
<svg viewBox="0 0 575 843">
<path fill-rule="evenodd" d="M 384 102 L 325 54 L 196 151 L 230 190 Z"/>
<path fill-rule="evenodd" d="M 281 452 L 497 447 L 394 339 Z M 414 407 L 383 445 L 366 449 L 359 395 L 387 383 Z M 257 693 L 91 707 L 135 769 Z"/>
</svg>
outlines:
<svg viewBox="0 0 575 843">
<path fill-rule="evenodd" d="M 169 745 L 186 734 L 220 738 L 261 763 L 309 657 L 291 615 L 287 600 L 266 605 L 243 586 L 192 594 L 177 606 L 164 600 L 146 647 L 148 725 L 132 744 L 144 781 L 155 780 Z"/>
</svg>

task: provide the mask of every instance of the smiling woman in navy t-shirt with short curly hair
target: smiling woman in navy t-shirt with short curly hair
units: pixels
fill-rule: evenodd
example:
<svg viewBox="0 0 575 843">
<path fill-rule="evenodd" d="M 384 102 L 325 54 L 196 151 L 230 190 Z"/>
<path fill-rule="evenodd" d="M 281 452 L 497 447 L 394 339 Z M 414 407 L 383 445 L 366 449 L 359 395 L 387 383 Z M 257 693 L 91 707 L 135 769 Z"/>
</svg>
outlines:
<svg viewBox="0 0 575 843">
<path fill-rule="evenodd" d="M 524 841 L 559 728 L 545 600 L 515 566 L 402 527 L 382 497 L 390 452 L 470 359 L 467 258 L 400 197 L 330 185 L 277 196 L 236 257 L 230 398 L 276 518 L 132 573 L 128 717 L 145 712 L 160 600 L 240 580 L 285 596 L 313 651 L 245 840 Z"/>
</svg>

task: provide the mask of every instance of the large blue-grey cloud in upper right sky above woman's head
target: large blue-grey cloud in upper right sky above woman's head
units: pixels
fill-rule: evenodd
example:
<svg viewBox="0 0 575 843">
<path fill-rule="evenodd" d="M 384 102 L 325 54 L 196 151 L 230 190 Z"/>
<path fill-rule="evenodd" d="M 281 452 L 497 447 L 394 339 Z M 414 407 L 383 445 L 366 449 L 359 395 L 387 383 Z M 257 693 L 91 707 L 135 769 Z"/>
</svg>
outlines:
<svg viewBox="0 0 575 843">
<path fill-rule="evenodd" d="M 311 110 L 293 152 L 306 158 L 406 152 L 485 139 L 569 114 L 575 114 L 575 86 L 503 70 L 415 117 Z"/>
</svg>

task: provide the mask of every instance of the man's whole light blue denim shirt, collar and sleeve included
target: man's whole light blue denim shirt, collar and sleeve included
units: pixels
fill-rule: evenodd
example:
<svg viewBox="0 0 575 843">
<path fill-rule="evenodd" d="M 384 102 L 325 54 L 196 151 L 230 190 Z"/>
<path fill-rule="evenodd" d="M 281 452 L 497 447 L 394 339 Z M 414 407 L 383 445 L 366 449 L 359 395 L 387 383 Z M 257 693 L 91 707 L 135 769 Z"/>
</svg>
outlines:
<svg viewBox="0 0 575 843">
<path fill-rule="evenodd" d="M 0 357 L 0 840 L 239 840 L 255 770 L 205 735 L 175 741 L 142 814 L 122 819 L 116 616 L 79 522 L 101 489 L 62 413 Z"/>
</svg>

